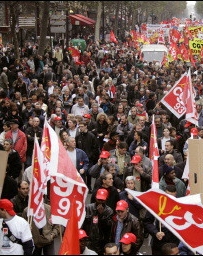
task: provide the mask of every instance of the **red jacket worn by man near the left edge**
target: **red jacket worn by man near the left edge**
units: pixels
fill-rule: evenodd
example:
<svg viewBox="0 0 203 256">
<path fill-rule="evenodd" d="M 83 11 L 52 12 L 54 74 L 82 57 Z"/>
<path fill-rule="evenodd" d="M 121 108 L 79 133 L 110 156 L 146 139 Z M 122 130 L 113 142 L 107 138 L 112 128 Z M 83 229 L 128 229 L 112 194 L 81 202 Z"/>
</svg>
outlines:
<svg viewBox="0 0 203 256">
<path fill-rule="evenodd" d="M 12 131 L 8 131 L 5 134 L 5 139 L 12 139 Z M 18 129 L 18 135 L 16 141 L 13 145 L 13 149 L 15 149 L 20 155 L 20 160 L 22 163 L 26 161 L 26 151 L 27 151 L 27 137 L 24 132 Z"/>
</svg>

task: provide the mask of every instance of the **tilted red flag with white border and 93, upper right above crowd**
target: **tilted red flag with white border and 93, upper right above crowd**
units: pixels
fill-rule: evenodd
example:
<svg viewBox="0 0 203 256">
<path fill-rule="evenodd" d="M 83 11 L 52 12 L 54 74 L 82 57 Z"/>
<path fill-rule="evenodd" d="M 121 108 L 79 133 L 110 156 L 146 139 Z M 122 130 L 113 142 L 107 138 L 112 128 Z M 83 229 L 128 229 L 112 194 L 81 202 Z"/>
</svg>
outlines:
<svg viewBox="0 0 203 256">
<path fill-rule="evenodd" d="M 164 104 L 178 119 L 186 113 L 185 101 L 183 98 L 184 87 L 187 83 L 187 73 L 174 84 L 168 93 L 161 99 Z"/>
</svg>

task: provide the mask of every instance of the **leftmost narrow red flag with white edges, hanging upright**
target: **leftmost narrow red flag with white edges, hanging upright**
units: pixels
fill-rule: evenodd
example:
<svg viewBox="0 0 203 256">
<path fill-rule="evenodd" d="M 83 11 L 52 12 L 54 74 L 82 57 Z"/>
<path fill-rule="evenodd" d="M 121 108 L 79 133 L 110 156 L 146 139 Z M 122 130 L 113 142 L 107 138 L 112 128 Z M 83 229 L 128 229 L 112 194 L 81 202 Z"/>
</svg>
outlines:
<svg viewBox="0 0 203 256">
<path fill-rule="evenodd" d="M 42 228 L 46 225 L 44 208 L 44 194 L 46 188 L 44 184 L 46 176 L 43 170 L 43 155 L 36 135 L 34 138 L 32 170 L 27 216 L 33 216 L 35 225 L 38 228 Z"/>
</svg>

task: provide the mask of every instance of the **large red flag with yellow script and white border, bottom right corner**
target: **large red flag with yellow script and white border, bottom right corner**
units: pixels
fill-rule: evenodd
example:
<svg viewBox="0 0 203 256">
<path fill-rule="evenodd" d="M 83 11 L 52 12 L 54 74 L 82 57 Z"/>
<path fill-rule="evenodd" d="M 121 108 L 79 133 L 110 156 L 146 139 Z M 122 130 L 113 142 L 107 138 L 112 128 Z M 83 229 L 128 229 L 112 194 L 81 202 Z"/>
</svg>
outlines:
<svg viewBox="0 0 203 256">
<path fill-rule="evenodd" d="M 193 252 L 203 254 L 201 194 L 176 198 L 160 189 L 152 188 L 146 192 L 125 190 L 188 248 Z"/>
</svg>

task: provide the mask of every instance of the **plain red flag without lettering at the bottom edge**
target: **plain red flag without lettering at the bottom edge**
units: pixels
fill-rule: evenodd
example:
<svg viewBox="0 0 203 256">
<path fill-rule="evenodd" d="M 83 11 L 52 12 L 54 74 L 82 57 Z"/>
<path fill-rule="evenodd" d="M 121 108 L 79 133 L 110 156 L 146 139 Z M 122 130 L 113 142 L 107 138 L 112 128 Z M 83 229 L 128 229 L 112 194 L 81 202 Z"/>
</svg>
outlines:
<svg viewBox="0 0 203 256">
<path fill-rule="evenodd" d="M 78 216 L 75 200 L 72 201 L 71 215 L 66 226 L 59 255 L 80 255 Z"/>
</svg>

